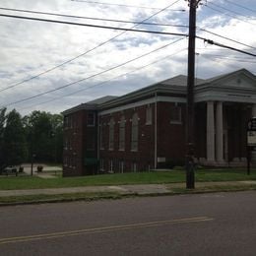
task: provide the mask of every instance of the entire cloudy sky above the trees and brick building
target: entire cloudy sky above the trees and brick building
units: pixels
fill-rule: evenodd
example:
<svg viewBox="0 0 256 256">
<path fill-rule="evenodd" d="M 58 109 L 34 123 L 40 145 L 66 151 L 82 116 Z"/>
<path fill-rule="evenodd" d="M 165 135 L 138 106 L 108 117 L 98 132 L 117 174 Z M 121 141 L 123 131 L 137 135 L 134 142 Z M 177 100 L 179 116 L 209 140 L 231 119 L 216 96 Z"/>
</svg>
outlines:
<svg viewBox="0 0 256 256">
<path fill-rule="evenodd" d="M 0 8 L 84 19 L 1 9 L 2 15 L 188 33 L 188 6 L 184 0 L 2 0 Z M 142 21 L 151 25 L 132 23 Z M 0 26 L 0 107 L 16 108 L 22 114 L 35 109 L 58 113 L 99 96 L 121 96 L 187 73 L 186 36 L 122 32 L 3 16 Z M 197 29 L 202 37 L 256 54 L 256 3 L 202 0 Z M 200 39 L 196 45 L 199 78 L 241 68 L 256 74 L 255 57 Z"/>
</svg>

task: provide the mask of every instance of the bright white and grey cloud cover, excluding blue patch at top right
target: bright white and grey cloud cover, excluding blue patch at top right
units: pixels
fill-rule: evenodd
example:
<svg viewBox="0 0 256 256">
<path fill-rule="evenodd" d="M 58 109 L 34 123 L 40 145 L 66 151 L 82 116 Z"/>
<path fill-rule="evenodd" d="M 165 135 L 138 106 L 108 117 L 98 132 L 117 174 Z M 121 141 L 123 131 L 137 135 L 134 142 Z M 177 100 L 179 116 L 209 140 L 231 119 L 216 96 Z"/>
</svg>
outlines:
<svg viewBox="0 0 256 256">
<path fill-rule="evenodd" d="M 100 1 L 107 2 L 104 0 Z M 156 3 L 149 0 L 116 0 L 112 1 L 111 3 L 148 6 L 162 9 L 173 2 L 174 0 L 160 0 Z M 224 4 L 220 1 L 219 3 Z M 136 9 L 121 6 L 93 5 L 69 0 L 3 0 L 1 1 L 1 7 L 127 21 L 141 21 L 159 11 L 156 9 Z M 187 25 L 188 12 L 176 12 L 172 10 L 188 10 L 186 2 L 180 0 L 170 9 L 171 10 L 161 12 L 149 22 L 171 25 Z M 245 10 L 240 11 L 242 12 Z M 14 13 L 3 10 L 0 13 L 38 17 L 37 15 Z M 251 15 L 252 13 L 250 13 L 250 16 Z M 91 23 L 104 26 L 108 25 L 125 28 L 131 28 L 133 26 L 131 24 L 113 24 L 110 22 L 66 19 L 53 16 L 39 17 L 47 19 L 59 19 L 62 21 Z M 9 85 L 14 85 L 17 82 L 28 79 L 38 73 L 41 73 L 95 48 L 84 56 L 81 56 L 80 58 L 62 66 L 59 69 L 48 72 L 43 76 L 31 80 L 28 83 L 21 84 L 20 86 L 8 91 L 1 92 L 1 105 L 8 104 L 29 96 L 35 96 L 36 94 L 54 90 L 58 87 L 68 85 L 80 79 L 94 76 L 98 72 L 102 72 L 125 61 L 136 58 L 151 50 L 157 49 L 171 40 L 174 40 L 174 37 L 169 35 L 123 32 L 120 36 L 116 37 L 116 39 L 111 40 L 108 43 L 104 43 L 99 47 L 98 45 L 100 43 L 110 39 L 113 36 L 116 36 L 121 32 L 16 20 L 4 17 L 1 17 L 0 19 L 0 89 L 4 89 Z M 223 34 L 224 36 L 230 37 L 237 41 L 242 41 L 249 45 L 256 45 L 255 36 L 252 36 L 252 34 L 255 34 L 255 26 L 232 19 L 228 16 L 224 16 L 221 13 L 211 11 L 204 6 L 201 6 L 198 10 L 197 27 L 207 29 L 211 32 Z M 137 28 L 147 29 L 146 26 L 138 26 Z M 184 28 L 173 27 L 156 27 L 150 29 L 161 30 L 164 32 L 187 32 L 187 30 Z M 202 36 L 231 45 L 233 47 L 245 48 L 242 45 L 210 33 L 198 33 Z M 122 95 L 180 73 L 186 74 L 186 50 L 172 57 L 162 59 L 166 57 L 166 55 L 179 52 L 185 47 L 187 47 L 186 39 L 174 43 L 162 50 L 156 51 L 155 53 L 152 53 L 144 58 L 140 58 L 137 61 L 131 62 L 123 67 L 113 69 L 111 72 L 103 73 L 100 76 L 93 77 L 92 79 L 87 79 L 82 83 L 74 84 L 63 90 L 44 96 L 35 97 L 32 100 L 24 101 L 19 104 L 10 105 L 9 109 L 15 107 L 23 114 L 28 113 L 33 109 L 45 109 L 52 112 L 60 112 L 75 104 L 94 99 L 96 96 Z M 235 59 L 232 61 L 228 59 L 220 60 L 215 57 L 216 55 L 220 54 L 237 57 L 241 56 L 241 54 L 236 54 L 234 52 L 230 53 L 230 51 L 226 53 L 226 51 L 216 46 L 206 46 L 202 41 L 199 40 L 197 41 L 197 47 L 197 51 L 200 53 L 197 60 L 197 74 L 203 78 L 218 75 L 220 72 L 224 73 L 232 71 L 236 69 L 235 67 L 237 67 L 237 69 L 245 67 L 255 72 L 253 67 L 254 64 L 237 62 Z M 247 50 L 256 52 L 255 49 Z M 215 56 L 211 56 L 211 54 L 215 54 Z M 242 55 L 242 57 L 244 57 L 244 55 Z M 140 69 L 142 66 L 154 61 L 156 62 L 160 59 L 162 59 L 162 61 L 148 66 L 147 68 Z M 108 82 L 102 86 L 84 90 L 77 95 L 67 96 L 68 94 L 73 94 L 76 91 L 81 91 L 83 89 L 92 87 L 100 82 L 115 78 L 121 74 L 136 71 L 136 69 L 138 70 L 137 72 L 127 74 L 125 77 L 119 77 L 116 80 Z M 40 104 L 59 96 L 64 97 L 48 103 Z"/>
</svg>

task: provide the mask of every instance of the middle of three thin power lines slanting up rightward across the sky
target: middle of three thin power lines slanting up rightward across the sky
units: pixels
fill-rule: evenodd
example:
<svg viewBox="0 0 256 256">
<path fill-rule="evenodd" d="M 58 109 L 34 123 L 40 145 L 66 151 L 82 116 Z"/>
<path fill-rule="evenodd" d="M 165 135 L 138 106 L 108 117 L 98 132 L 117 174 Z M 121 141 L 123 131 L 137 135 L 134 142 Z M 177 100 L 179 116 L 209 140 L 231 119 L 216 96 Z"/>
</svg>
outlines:
<svg viewBox="0 0 256 256">
<path fill-rule="evenodd" d="M 64 85 L 64 86 L 61 86 L 61 87 L 58 87 L 58 88 L 55 88 L 55 89 L 52 89 L 52 90 L 49 90 L 49 91 L 45 91 L 45 92 L 40 93 L 40 94 L 37 94 L 37 95 L 35 95 L 35 96 L 29 96 L 29 97 L 26 97 L 26 98 L 23 98 L 23 99 L 14 101 L 14 102 L 7 103 L 7 104 L 5 104 L 5 105 L 3 105 L 3 106 L 9 106 L 9 105 L 13 105 L 13 104 L 16 104 L 16 103 L 21 103 L 21 102 L 30 100 L 30 99 L 32 99 L 32 98 L 35 98 L 35 97 L 38 97 L 38 96 L 44 96 L 44 95 L 47 95 L 47 94 L 49 94 L 49 93 L 53 93 L 53 92 L 62 90 L 62 89 L 64 89 L 64 88 L 73 86 L 73 85 L 75 85 L 75 84 L 84 82 L 84 81 L 86 81 L 86 80 L 95 78 L 96 76 L 99 76 L 99 75 L 102 75 L 102 74 L 104 74 L 104 73 L 106 73 L 106 72 L 109 72 L 109 71 L 112 71 L 112 70 L 114 70 L 114 69 L 117 69 L 117 68 L 119 68 L 119 67 L 121 67 L 121 66 L 124 66 L 124 65 L 126 65 L 126 64 L 128 64 L 128 63 L 130 63 L 130 62 L 133 62 L 133 61 L 135 61 L 135 60 L 137 60 L 137 59 L 140 59 L 140 58 L 142 58 L 142 57 L 145 57 L 145 56 L 147 56 L 147 55 L 149 55 L 149 54 L 151 54 L 151 53 L 153 53 L 153 52 L 155 52 L 155 51 L 157 51 L 157 50 L 163 49 L 163 48 L 169 46 L 170 44 L 173 44 L 173 43 L 175 43 L 175 42 L 178 42 L 178 41 L 181 40 L 181 39 L 183 39 L 183 38 L 179 38 L 179 39 L 175 40 L 174 42 L 172 41 L 172 42 L 170 42 L 170 43 L 167 43 L 167 44 L 161 46 L 160 48 L 157 48 L 157 49 L 154 49 L 154 50 L 149 51 L 149 52 L 147 52 L 147 53 L 144 53 L 144 54 L 142 54 L 141 56 L 138 56 L 138 57 L 136 57 L 136 58 L 130 59 L 130 60 L 128 60 L 128 61 L 125 61 L 125 62 L 123 62 L 123 63 L 121 63 L 121 64 L 118 64 L 118 65 L 113 66 L 113 67 L 111 67 L 111 68 L 108 68 L 108 69 L 106 69 L 106 70 L 100 71 L 100 72 L 98 72 L 98 73 L 96 73 L 96 74 L 94 74 L 94 75 L 91 75 L 91 76 L 89 76 L 89 77 L 80 79 L 80 80 L 78 80 L 78 81 L 69 83 L 69 84 L 67 84 L 67 85 Z M 1 106 L 0 106 L 0 107 L 1 107 Z"/>
</svg>

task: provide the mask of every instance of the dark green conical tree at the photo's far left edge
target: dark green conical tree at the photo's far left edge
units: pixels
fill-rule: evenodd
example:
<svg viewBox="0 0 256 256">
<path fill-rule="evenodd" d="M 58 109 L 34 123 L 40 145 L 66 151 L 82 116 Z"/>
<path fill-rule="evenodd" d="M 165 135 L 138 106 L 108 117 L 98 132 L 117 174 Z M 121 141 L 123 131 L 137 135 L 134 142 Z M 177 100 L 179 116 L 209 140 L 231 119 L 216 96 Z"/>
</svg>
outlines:
<svg viewBox="0 0 256 256">
<path fill-rule="evenodd" d="M 20 113 L 15 109 L 6 116 L 3 136 L 4 160 L 7 165 L 21 164 L 27 159 L 28 148 Z"/>
</svg>

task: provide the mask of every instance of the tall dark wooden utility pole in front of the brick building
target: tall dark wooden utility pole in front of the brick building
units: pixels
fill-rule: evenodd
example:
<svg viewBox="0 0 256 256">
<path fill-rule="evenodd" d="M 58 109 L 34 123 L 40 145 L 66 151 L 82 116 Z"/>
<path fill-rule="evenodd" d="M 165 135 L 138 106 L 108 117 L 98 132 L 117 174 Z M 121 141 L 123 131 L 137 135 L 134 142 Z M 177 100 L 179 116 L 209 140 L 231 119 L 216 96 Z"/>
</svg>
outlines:
<svg viewBox="0 0 256 256">
<path fill-rule="evenodd" d="M 186 188 L 195 188 L 194 170 L 194 86 L 195 86 L 195 39 L 196 10 L 200 0 L 188 0 L 189 39 L 188 39 L 188 74 L 187 74 L 187 111 L 186 111 Z"/>
</svg>

